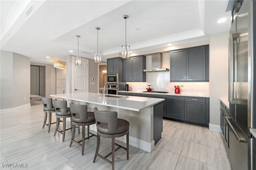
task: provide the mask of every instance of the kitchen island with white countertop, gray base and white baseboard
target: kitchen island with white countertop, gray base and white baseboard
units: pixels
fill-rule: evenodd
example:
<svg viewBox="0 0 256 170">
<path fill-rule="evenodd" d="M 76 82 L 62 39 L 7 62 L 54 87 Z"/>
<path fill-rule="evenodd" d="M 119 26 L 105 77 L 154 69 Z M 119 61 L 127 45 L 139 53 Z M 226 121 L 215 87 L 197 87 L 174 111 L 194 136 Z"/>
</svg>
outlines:
<svg viewBox="0 0 256 170">
<path fill-rule="evenodd" d="M 99 93 L 69 93 L 50 95 L 66 99 L 69 103 L 86 104 L 88 111 L 97 107 L 100 111 L 116 111 L 118 118 L 130 123 L 130 145 L 152 152 L 162 134 L 162 110 L 164 99 L 123 95 L 99 96 Z M 90 129 L 97 131 L 96 125 Z M 116 138 L 126 142 L 126 137 Z"/>
</svg>

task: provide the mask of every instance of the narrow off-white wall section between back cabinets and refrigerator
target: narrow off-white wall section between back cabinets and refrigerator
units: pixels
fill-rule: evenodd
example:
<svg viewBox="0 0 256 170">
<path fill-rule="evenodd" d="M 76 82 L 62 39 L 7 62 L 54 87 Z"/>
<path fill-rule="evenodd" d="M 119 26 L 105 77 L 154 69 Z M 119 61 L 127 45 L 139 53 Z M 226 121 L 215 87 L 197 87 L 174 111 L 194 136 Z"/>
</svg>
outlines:
<svg viewBox="0 0 256 170">
<path fill-rule="evenodd" d="M 210 124 L 220 125 L 220 97 L 228 97 L 229 32 L 210 35 Z"/>
</svg>

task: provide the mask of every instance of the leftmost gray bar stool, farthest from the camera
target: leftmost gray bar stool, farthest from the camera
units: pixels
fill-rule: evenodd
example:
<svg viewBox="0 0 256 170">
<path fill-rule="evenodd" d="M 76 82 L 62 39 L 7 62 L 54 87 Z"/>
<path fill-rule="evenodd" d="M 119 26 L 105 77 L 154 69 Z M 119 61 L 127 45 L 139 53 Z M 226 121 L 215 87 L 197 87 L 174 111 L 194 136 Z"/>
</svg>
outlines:
<svg viewBox="0 0 256 170">
<path fill-rule="evenodd" d="M 51 125 L 56 123 L 56 122 L 52 123 L 52 113 L 55 112 L 55 107 L 52 105 L 52 98 L 42 97 L 41 101 L 44 104 L 44 125 L 42 128 L 44 128 L 44 126 L 47 126 L 48 133 L 49 133 Z M 49 113 L 49 118 L 48 118 L 49 123 L 48 124 L 46 124 L 47 113 Z"/>
</svg>

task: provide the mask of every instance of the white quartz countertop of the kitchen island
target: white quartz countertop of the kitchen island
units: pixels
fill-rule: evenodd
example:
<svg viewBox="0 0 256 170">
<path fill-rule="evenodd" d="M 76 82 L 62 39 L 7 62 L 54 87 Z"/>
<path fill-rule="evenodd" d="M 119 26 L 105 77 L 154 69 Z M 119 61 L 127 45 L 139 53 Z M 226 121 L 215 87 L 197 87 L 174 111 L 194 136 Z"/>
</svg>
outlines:
<svg viewBox="0 0 256 170">
<path fill-rule="evenodd" d="M 94 103 L 98 105 L 105 105 L 109 107 L 116 107 L 120 109 L 140 111 L 146 107 L 150 107 L 157 103 L 164 101 L 164 99 L 123 96 L 123 95 L 109 95 L 109 97 L 99 96 L 99 93 L 69 93 L 60 95 L 50 95 L 62 99 L 70 99 L 74 101 L 81 101 L 85 103 Z M 111 97 L 116 96 L 116 97 Z M 117 98 L 120 97 L 120 98 Z"/>
</svg>

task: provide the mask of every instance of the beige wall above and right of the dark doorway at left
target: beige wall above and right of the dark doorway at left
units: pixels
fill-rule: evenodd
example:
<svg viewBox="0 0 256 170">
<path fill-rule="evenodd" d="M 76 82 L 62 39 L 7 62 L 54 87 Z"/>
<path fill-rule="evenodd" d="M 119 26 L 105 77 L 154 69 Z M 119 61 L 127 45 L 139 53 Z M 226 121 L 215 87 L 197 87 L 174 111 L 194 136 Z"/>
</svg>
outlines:
<svg viewBox="0 0 256 170">
<path fill-rule="evenodd" d="M 56 68 L 51 64 L 30 63 L 30 65 L 45 66 L 45 96 L 56 94 Z"/>
</svg>

